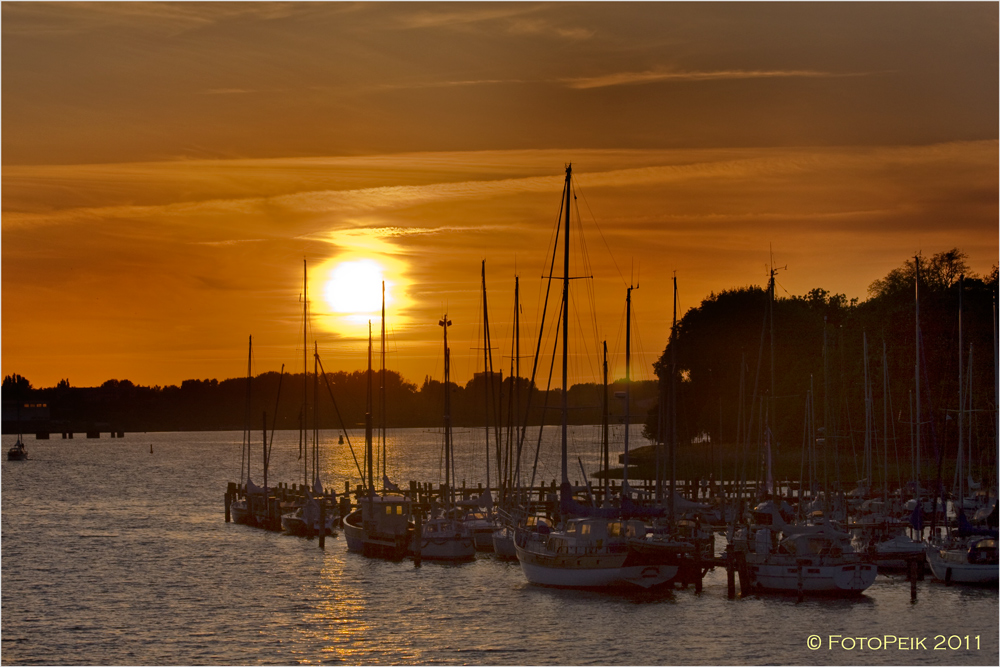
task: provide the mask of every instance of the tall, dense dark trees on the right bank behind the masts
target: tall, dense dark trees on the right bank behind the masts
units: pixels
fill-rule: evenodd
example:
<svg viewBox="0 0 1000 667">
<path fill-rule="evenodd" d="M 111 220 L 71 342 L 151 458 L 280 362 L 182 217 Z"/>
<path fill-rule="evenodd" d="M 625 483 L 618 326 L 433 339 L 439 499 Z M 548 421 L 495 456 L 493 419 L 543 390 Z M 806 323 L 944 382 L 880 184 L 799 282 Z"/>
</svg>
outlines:
<svg viewBox="0 0 1000 667">
<path fill-rule="evenodd" d="M 965 438 L 971 440 L 974 465 L 992 470 L 996 461 L 993 307 L 997 267 L 988 276 L 978 276 L 968 270 L 965 260 L 965 253 L 958 249 L 930 259 L 910 259 L 874 281 L 869 298 L 861 303 L 823 289 L 804 296 L 776 297 L 773 318 L 766 287 L 710 295 L 678 321 L 675 342 L 668 343 L 654 364 L 667 392 L 672 353 L 676 354 L 673 384 L 679 445 L 690 446 L 692 439 L 707 434 L 716 443 L 749 443 L 752 448 L 762 439 L 761 424 L 770 423 L 779 451 L 799 451 L 811 387 L 817 429 L 829 424 L 830 436 L 837 443 L 834 451 L 841 456 L 836 464 L 846 478 L 853 479 L 855 464 L 843 458 L 852 453 L 861 456 L 864 448 L 867 336 L 873 439 L 882 442 L 885 398 L 889 437 L 895 437 L 900 457 L 909 460 L 911 410 L 916 410 L 911 400 L 916 400 L 915 265 L 919 262 L 922 467 L 936 468 L 939 460 L 951 461 L 957 452 L 961 284 L 962 373 L 966 410 L 970 406 L 972 410 L 964 415 Z M 676 345 L 675 352 L 671 344 Z M 887 392 L 883 391 L 883 344 Z M 756 411 L 753 417 L 751 408 Z M 654 406 L 646 419 L 648 436 L 657 436 L 659 423 Z"/>
</svg>

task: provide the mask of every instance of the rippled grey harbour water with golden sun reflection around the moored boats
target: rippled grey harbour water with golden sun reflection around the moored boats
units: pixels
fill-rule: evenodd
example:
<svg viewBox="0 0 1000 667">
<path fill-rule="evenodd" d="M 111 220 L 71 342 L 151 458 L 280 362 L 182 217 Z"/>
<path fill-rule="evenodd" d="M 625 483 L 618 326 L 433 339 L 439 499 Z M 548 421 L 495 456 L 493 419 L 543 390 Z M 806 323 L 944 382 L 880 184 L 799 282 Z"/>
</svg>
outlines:
<svg viewBox="0 0 1000 667">
<path fill-rule="evenodd" d="M 574 462 L 596 460 L 593 433 L 574 429 Z M 516 563 L 492 556 L 415 568 L 347 553 L 343 536 L 321 551 L 226 524 L 239 439 L 29 437 L 32 460 L 3 461 L 3 664 L 998 663 L 997 591 L 929 575 L 916 604 L 905 579 L 882 575 L 860 599 L 800 604 L 727 600 L 722 570 L 700 595 L 561 591 L 528 585 Z M 459 481 L 485 481 L 481 432 L 457 439 Z M 393 433 L 389 477 L 441 481 L 440 443 L 431 431 Z M 542 479 L 558 477 L 554 451 L 543 446 Z M 297 455 L 297 435 L 278 434 L 272 483 L 302 481 Z M 338 491 L 348 475 L 358 482 L 346 445 L 323 457 Z M 822 648 L 807 648 L 810 635 Z M 924 638 L 926 648 L 831 650 L 830 635 Z M 934 650 L 935 635 L 960 636 L 962 648 Z"/>
</svg>

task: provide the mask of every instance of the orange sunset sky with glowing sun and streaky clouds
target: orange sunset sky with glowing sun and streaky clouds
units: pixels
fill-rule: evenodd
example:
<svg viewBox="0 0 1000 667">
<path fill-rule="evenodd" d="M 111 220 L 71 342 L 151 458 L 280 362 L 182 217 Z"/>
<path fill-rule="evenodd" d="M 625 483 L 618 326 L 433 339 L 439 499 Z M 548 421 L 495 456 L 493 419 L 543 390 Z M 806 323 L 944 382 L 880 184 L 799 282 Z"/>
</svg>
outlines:
<svg viewBox="0 0 1000 667">
<path fill-rule="evenodd" d="M 0 11 L 2 372 L 36 387 L 237 377 L 250 335 L 301 371 L 303 259 L 328 371 L 363 367 L 379 275 L 390 368 L 440 379 L 447 311 L 481 371 L 485 260 L 527 375 L 568 163 L 574 382 L 600 340 L 624 375 L 632 283 L 650 379 L 675 272 L 683 314 L 772 254 L 779 295 L 862 300 L 917 252 L 997 263 L 996 3 Z"/>
</svg>

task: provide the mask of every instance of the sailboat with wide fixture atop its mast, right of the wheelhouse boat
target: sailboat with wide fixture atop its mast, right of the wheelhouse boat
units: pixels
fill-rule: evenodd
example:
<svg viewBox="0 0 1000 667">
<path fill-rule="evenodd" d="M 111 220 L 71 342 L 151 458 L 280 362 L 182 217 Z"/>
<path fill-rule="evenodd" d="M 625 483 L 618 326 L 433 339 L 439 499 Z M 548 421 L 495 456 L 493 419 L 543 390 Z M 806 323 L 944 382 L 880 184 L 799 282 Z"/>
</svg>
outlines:
<svg viewBox="0 0 1000 667">
<path fill-rule="evenodd" d="M 420 527 L 420 534 L 413 544 L 414 553 L 428 560 L 462 561 L 476 557 L 476 542 L 469 524 L 455 517 L 454 491 L 451 470 L 454 461 L 451 439 L 451 350 L 448 349 L 448 327 L 451 320 L 445 315 L 438 323 L 444 328 L 444 515 L 432 517 Z"/>
</svg>

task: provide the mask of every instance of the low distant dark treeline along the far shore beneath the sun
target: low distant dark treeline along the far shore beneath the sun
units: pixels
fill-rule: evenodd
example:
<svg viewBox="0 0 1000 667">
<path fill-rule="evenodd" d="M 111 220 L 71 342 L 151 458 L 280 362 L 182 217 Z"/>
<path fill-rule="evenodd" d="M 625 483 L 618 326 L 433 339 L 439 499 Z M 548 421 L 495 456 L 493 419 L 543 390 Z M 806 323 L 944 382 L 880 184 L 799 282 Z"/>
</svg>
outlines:
<svg viewBox="0 0 1000 667">
<path fill-rule="evenodd" d="M 374 421 L 380 421 L 378 371 L 373 372 Z M 456 426 L 476 427 L 486 424 L 487 376 L 476 374 L 465 386 L 451 383 L 452 423 Z M 264 413 L 268 415 L 269 428 L 298 429 L 303 413 L 303 391 L 308 394 L 309 411 L 306 427 L 313 428 L 314 418 L 319 428 L 363 428 L 365 423 L 368 386 L 365 371 L 328 373 L 326 380 L 309 374 L 303 376 L 277 372 L 262 373 L 250 381 L 249 408 L 247 407 L 247 379 L 185 380 L 178 386 L 144 387 L 129 380 L 108 380 L 100 387 L 71 387 L 62 380 L 55 387 L 33 389 L 20 376 L 4 379 L 4 400 L 18 399 L 46 402 L 50 412 L 47 423 L 33 419 L 24 423 L 26 432 L 50 430 L 58 432 L 63 425 L 76 430 L 90 429 L 93 425 L 106 425 L 109 429 L 136 431 L 201 431 L 241 430 L 249 421 L 253 429 L 263 428 Z M 622 381 L 609 387 L 609 394 L 623 389 Z M 279 394 L 280 384 L 280 394 Z M 545 392 L 534 388 L 522 378 L 519 391 L 511 378 L 504 378 L 501 386 L 499 375 L 494 376 L 491 395 L 499 396 L 500 406 L 491 408 L 489 423 L 510 423 L 510 415 L 523 415 L 531 409 L 529 424 L 540 424 L 542 415 L 546 423 L 560 423 L 560 414 L 554 410 L 560 405 L 559 391 L 550 392 L 548 409 L 545 409 Z M 303 389 L 303 385 L 305 389 Z M 15 387 L 17 390 L 15 391 Z M 8 394 L 10 389 L 10 394 Z M 632 411 L 639 414 L 655 400 L 656 383 L 633 383 Z M 573 424 L 599 424 L 601 422 L 602 387 L 580 384 L 570 388 L 570 421 Z M 318 394 L 318 401 L 315 394 Z M 331 398 L 331 394 L 333 398 Z M 519 400 L 517 408 L 515 400 Z M 336 401 L 336 409 L 334 407 Z M 318 405 L 318 408 L 313 406 Z M 425 378 L 418 388 L 407 382 L 395 371 L 385 373 L 385 423 L 388 428 L 436 427 L 444 421 L 444 386 L 438 380 Z M 620 401 L 611 406 L 620 413 Z M 339 416 L 338 418 L 338 411 Z M 277 418 L 275 419 L 275 415 Z M 341 421 L 342 420 L 342 421 Z M 520 420 L 519 420 L 520 421 Z M 4 431 L 14 432 L 17 425 L 5 417 Z M 63 429 L 65 430 L 65 429 Z M 94 430 L 108 430 L 96 428 Z"/>
</svg>

